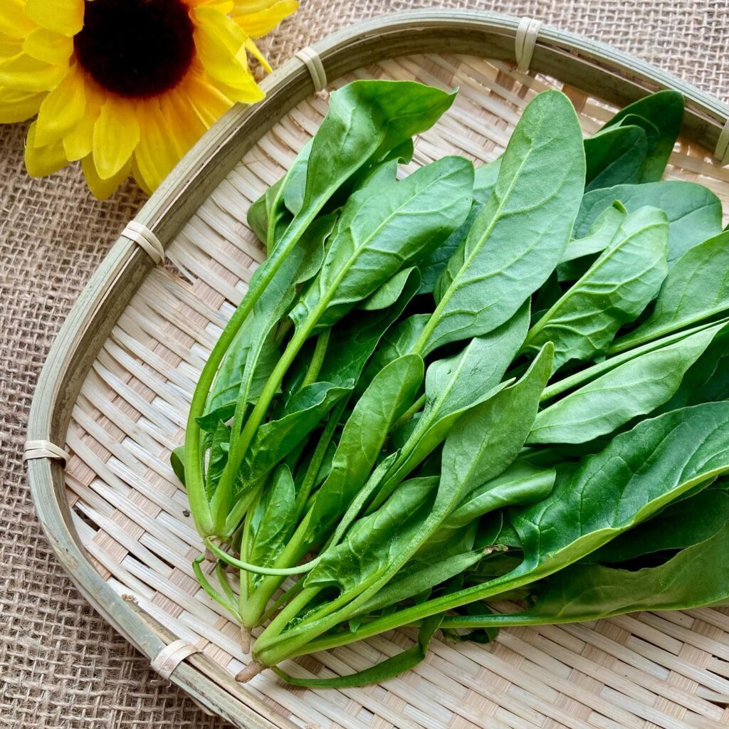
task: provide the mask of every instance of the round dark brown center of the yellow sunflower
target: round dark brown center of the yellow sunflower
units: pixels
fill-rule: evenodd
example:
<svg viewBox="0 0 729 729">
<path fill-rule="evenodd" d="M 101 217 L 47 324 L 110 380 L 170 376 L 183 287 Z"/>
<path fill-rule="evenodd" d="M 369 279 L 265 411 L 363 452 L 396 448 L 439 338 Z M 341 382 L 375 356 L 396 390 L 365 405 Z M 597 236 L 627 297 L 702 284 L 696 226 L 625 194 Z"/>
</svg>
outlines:
<svg viewBox="0 0 729 729">
<path fill-rule="evenodd" d="M 176 86 L 195 54 L 182 0 L 86 0 L 79 63 L 109 91 L 145 98 Z"/>
</svg>

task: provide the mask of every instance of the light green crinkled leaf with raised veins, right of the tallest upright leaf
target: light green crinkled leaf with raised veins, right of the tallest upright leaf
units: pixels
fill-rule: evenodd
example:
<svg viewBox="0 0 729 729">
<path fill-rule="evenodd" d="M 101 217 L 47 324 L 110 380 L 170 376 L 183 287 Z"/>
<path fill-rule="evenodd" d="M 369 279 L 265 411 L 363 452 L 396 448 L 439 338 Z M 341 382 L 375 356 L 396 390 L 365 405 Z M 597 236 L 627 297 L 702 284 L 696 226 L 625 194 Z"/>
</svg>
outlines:
<svg viewBox="0 0 729 729">
<path fill-rule="evenodd" d="M 553 342 L 555 370 L 607 351 L 617 330 L 658 293 L 667 273 L 667 241 L 663 211 L 646 207 L 628 215 L 609 248 L 531 327 L 523 351 Z"/>
</svg>

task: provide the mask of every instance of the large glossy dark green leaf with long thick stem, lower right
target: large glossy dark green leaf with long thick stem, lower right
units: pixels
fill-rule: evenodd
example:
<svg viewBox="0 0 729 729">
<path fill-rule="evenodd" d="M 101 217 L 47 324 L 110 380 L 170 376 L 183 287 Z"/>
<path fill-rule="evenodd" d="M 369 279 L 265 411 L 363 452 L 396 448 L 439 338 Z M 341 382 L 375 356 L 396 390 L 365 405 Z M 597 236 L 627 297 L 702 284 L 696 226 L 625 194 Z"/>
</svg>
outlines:
<svg viewBox="0 0 729 729">
<path fill-rule="evenodd" d="M 373 620 L 364 636 L 547 577 L 725 472 L 729 472 L 729 402 L 697 405 L 643 421 L 586 459 L 573 475 L 558 475 L 547 499 L 512 510 L 510 518 L 524 549 L 516 569 Z M 712 565 L 717 565 L 715 559 Z M 651 595 L 655 597 L 655 586 Z"/>
</svg>

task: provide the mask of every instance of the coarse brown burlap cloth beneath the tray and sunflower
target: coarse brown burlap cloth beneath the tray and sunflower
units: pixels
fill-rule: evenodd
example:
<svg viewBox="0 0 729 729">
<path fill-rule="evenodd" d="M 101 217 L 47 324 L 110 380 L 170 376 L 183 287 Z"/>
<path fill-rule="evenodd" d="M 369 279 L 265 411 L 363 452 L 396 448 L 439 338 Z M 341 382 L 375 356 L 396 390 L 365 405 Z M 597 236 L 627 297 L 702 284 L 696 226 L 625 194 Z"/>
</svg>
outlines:
<svg viewBox="0 0 729 729">
<path fill-rule="evenodd" d="M 538 17 L 726 97 L 729 0 L 304 0 L 268 42 L 274 65 L 340 26 L 423 6 Z M 0 127 L 0 728 L 220 728 L 87 607 L 47 547 L 20 462 L 34 383 L 63 319 L 144 202 L 99 203 L 76 167 L 31 180 L 26 125 Z"/>
</svg>

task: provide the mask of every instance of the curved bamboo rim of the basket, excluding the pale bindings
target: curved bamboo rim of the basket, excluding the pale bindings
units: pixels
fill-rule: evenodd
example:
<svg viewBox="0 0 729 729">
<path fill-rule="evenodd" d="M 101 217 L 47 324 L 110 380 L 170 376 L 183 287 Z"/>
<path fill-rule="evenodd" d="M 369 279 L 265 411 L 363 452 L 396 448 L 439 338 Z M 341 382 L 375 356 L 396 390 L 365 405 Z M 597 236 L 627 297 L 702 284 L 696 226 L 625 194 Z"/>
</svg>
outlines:
<svg viewBox="0 0 729 729">
<path fill-rule="evenodd" d="M 470 53 L 483 58 L 515 60 L 520 18 L 493 12 L 422 9 L 375 17 L 313 44 L 327 77 L 337 78 L 364 63 L 412 52 Z M 453 44 L 458 50 L 453 51 Z M 542 26 L 531 67 L 562 82 L 590 91 L 600 79 L 600 96 L 618 105 L 661 88 L 685 95 L 684 136 L 709 149 L 717 145 L 729 123 L 729 105 L 666 71 L 615 50 L 607 44 L 558 28 Z M 201 200 L 233 168 L 262 133 L 298 101 L 316 90 L 307 64 L 294 56 L 262 83 L 266 98 L 256 106 L 236 106 L 195 144 L 139 211 L 135 222 L 146 227 L 163 247 L 195 212 Z M 312 89 L 313 87 L 313 89 Z M 61 327 L 34 393 L 28 418 L 28 441 L 63 448 L 71 409 L 82 381 L 117 317 L 141 281 L 154 268 L 148 252 L 133 238 L 121 235 Z M 153 660 L 173 636 L 160 623 L 120 598 L 96 571 L 71 523 L 65 498 L 63 464 L 48 457 L 28 461 L 28 481 L 44 534 L 63 568 L 87 601 L 131 644 Z M 191 655 L 170 679 L 196 703 L 238 723 L 275 728 L 265 714 L 268 706 L 248 696 L 221 666 L 201 653 Z M 286 726 L 295 724 L 286 720 Z M 240 724 L 238 724 L 240 725 Z"/>
</svg>

